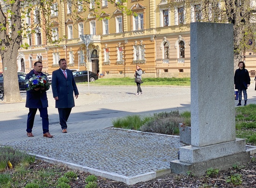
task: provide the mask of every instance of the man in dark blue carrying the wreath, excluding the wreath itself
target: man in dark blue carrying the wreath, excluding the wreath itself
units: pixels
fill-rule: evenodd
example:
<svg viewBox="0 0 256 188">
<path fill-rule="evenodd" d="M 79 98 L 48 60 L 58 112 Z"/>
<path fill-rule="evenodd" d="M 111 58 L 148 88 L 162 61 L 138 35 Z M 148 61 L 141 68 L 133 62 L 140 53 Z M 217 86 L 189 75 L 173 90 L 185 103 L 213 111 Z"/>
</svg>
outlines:
<svg viewBox="0 0 256 188">
<path fill-rule="evenodd" d="M 26 75 L 26 80 L 33 77 L 33 74 L 38 76 L 45 76 L 42 73 L 42 62 L 36 61 L 34 63 L 34 70 L 30 71 Z M 33 90 L 27 91 L 26 107 L 29 108 L 27 115 L 27 136 L 32 137 L 32 129 L 34 125 L 34 117 L 37 109 L 40 111 L 40 117 L 42 118 L 43 125 L 43 136 L 52 138 L 53 136 L 49 133 L 49 119 L 48 119 L 48 100 L 46 94 L 47 88 L 34 88 Z"/>
</svg>

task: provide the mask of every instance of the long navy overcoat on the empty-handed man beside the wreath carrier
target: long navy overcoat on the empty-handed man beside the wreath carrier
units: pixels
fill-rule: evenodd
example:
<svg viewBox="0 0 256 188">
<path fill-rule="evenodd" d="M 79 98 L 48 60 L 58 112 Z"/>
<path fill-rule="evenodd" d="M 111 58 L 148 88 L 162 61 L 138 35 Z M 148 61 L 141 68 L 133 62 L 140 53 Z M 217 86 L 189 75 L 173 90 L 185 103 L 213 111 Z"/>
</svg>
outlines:
<svg viewBox="0 0 256 188">
<path fill-rule="evenodd" d="M 59 98 L 59 100 L 55 100 L 55 108 L 73 108 L 74 95 L 79 95 L 74 81 L 73 72 L 66 69 L 66 73 L 67 79 L 61 69 L 53 71 L 53 96 Z"/>
</svg>

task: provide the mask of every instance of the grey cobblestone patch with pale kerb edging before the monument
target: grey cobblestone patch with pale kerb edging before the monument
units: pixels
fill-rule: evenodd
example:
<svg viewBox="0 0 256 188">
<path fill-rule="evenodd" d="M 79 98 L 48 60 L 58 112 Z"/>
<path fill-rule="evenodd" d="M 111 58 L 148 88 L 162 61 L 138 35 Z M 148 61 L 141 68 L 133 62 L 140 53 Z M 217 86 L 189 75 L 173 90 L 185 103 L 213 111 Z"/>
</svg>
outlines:
<svg viewBox="0 0 256 188">
<path fill-rule="evenodd" d="M 5 143 L 17 149 L 132 177 L 169 169 L 183 144 L 179 137 L 115 129 L 62 134 L 54 139 L 35 138 Z"/>
</svg>

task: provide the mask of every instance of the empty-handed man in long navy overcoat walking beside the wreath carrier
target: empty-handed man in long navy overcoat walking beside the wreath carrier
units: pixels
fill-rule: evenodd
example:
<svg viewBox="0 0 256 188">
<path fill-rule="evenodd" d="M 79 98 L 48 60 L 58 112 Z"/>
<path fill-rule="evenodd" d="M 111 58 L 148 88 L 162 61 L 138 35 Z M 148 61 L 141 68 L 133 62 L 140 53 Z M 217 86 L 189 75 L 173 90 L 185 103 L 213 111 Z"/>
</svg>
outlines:
<svg viewBox="0 0 256 188">
<path fill-rule="evenodd" d="M 60 59 L 59 66 L 60 69 L 53 71 L 52 90 L 55 108 L 59 111 L 62 132 L 67 133 L 67 119 L 74 107 L 74 95 L 77 98 L 79 92 L 72 71 L 67 69 L 66 59 Z"/>
</svg>

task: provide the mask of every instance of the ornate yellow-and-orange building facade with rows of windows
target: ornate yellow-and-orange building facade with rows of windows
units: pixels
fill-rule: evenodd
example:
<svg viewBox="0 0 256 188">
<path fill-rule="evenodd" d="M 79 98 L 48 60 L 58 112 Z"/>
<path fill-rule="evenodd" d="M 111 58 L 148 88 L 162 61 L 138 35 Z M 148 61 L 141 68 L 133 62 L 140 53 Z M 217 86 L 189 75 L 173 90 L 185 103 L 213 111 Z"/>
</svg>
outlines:
<svg viewBox="0 0 256 188">
<path fill-rule="evenodd" d="M 18 71 L 28 72 L 40 60 L 43 71 L 51 74 L 59 68 L 59 59 L 65 58 L 69 69 L 88 69 L 105 78 L 132 78 L 136 65 L 140 65 L 144 78 L 190 77 L 189 23 L 200 19 L 199 5 L 194 5 L 187 17 L 187 10 L 169 7 L 168 0 L 128 0 L 123 5 L 136 13 L 129 16 L 102 0 L 99 12 L 104 13 L 96 17 L 92 11 L 94 0 L 87 11 L 71 2 L 56 0 L 52 5 L 52 40 L 60 39 L 60 43 L 47 42 L 43 29 L 40 36 L 35 33 L 23 39 L 29 47 L 19 51 Z M 88 35 L 88 47 L 80 35 Z M 256 53 L 248 51 L 244 56 L 247 69 L 256 70 Z"/>
</svg>

